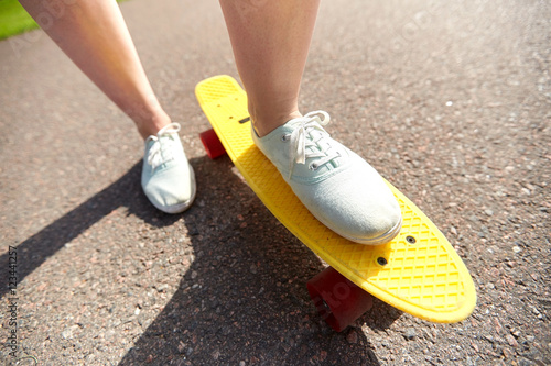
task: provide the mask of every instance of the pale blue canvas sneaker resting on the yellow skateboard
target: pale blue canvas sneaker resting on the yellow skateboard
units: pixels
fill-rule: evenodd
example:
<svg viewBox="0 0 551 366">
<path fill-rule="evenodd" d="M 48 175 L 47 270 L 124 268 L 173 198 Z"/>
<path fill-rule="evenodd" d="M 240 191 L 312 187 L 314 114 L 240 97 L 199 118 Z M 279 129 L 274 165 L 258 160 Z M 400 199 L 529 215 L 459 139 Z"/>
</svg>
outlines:
<svg viewBox="0 0 551 366">
<path fill-rule="evenodd" d="M 381 176 L 323 129 L 324 111 L 287 122 L 252 140 L 276 165 L 304 206 L 327 228 L 350 241 L 377 245 L 401 229 L 401 212 Z"/>
</svg>

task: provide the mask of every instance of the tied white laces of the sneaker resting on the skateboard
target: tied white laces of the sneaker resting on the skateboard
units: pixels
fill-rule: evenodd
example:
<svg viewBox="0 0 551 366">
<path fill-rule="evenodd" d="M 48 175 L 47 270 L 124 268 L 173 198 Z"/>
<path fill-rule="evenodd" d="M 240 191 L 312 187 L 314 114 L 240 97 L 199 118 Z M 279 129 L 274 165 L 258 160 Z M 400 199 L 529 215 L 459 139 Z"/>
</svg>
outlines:
<svg viewBox="0 0 551 366">
<path fill-rule="evenodd" d="M 289 165 L 289 177 L 292 176 L 294 165 L 306 164 L 306 159 L 318 157 L 311 163 L 309 168 L 317 170 L 321 166 L 333 162 L 341 154 L 332 152 L 329 142 L 324 141 L 329 134 L 323 129 L 331 121 L 325 111 L 314 111 L 305 114 L 301 124 L 291 134 L 283 135 L 284 141 L 291 141 L 291 160 Z M 314 133 L 317 131 L 318 133 Z M 313 148 L 309 148 L 313 147 Z"/>
</svg>

